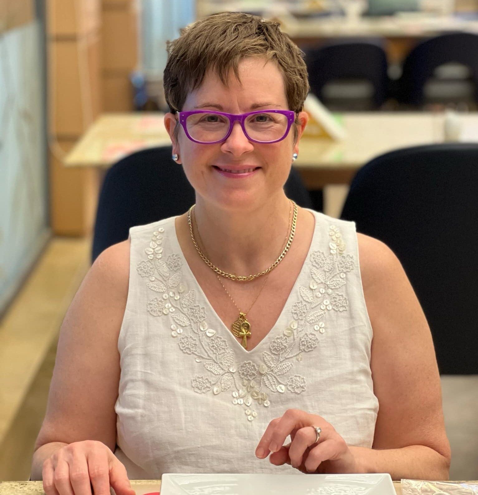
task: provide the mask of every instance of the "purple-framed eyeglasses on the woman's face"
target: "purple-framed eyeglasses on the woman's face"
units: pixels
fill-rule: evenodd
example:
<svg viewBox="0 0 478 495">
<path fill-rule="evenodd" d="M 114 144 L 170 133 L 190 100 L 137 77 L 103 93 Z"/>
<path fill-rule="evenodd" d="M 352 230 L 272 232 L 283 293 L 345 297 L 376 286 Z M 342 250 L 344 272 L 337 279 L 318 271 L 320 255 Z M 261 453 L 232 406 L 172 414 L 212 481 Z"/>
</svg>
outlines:
<svg viewBox="0 0 478 495">
<path fill-rule="evenodd" d="M 194 143 L 213 145 L 222 143 L 231 134 L 234 122 L 241 123 L 242 130 L 253 143 L 277 143 L 288 134 L 294 122 L 292 110 L 257 110 L 233 114 L 211 110 L 178 112 L 179 123 L 186 136 Z"/>
</svg>

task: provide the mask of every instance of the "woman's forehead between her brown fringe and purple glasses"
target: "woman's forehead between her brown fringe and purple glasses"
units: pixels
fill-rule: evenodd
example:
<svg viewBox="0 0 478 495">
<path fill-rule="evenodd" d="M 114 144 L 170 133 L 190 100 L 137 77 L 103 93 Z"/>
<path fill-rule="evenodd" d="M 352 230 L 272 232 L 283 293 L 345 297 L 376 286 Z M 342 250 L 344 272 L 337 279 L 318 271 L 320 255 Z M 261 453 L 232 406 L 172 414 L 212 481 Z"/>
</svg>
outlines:
<svg viewBox="0 0 478 495">
<path fill-rule="evenodd" d="M 238 64 L 238 78 L 231 69 L 225 84 L 219 76 L 208 71 L 198 88 L 191 91 L 185 101 L 185 109 L 214 102 L 221 106 L 239 103 L 271 102 L 287 108 L 284 77 L 273 60 L 247 57 Z"/>
</svg>

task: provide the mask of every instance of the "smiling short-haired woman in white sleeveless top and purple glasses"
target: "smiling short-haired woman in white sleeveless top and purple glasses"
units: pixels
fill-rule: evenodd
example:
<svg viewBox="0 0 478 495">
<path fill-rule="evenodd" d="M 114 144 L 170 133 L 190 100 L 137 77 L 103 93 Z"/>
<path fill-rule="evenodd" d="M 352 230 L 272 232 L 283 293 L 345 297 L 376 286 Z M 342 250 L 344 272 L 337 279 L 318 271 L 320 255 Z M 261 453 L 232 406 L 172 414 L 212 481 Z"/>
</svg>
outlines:
<svg viewBox="0 0 478 495">
<path fill-rule="evenodd" d="M 447 478 L 432 341 L 400 263 L 284 195 L 307 124 L 300 50 L 275 23 L 213 15 L 169 46 L 164 87 L 196 205 L 132 228 L 86 276 L 33 478 L 68 495 L 163 472 Z"/>
</svg>

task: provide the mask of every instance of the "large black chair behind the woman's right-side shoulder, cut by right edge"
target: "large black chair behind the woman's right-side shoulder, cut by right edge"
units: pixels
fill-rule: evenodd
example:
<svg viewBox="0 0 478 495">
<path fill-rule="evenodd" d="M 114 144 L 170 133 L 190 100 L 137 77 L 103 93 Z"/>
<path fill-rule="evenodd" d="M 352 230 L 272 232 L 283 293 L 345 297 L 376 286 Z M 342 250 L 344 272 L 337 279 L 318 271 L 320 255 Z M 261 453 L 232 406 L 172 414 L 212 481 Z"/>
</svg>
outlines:
<svg viewBox="0 0 478 495">
<path fill-rule="evenodd" d="M 477 193 L 478 144 L 399 149 L 360 169 L 341 215 L 402 262 L 442 374 L 478 373 Z"/>
</svg>

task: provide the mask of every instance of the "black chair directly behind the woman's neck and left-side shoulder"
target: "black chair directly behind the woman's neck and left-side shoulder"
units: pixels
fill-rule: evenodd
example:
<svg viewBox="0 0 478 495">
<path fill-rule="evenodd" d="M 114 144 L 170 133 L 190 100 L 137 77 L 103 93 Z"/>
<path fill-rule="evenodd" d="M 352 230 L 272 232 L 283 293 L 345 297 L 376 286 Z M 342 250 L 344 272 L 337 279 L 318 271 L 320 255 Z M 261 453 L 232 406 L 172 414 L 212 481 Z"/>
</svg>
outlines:
<svg viewBox="0 0 478 495">
<path fill-rule="evenodd" d="M 137 151 L 106 173 L 100 193 L 93 237 L 92 261 L 107 247 L 128 238 L 129 228 L 185 213 L 195 201 L 194 189 L 181 166 L 171 159 L 171 147 Z M 312 208 L 299 173 L 292 168 L 287 196 Z"/>
</svg>

